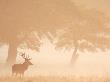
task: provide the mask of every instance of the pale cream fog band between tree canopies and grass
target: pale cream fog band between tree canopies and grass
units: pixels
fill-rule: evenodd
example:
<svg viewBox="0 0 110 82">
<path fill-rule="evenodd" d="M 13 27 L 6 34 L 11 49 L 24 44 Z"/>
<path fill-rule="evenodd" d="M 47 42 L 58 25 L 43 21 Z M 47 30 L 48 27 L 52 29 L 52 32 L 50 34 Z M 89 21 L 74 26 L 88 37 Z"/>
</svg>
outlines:
<svg viewBox="0 0 110 82">
<path fill-rule="evenodd" d="M 73 50 L 65 51 L 54 49 L 49 40 L 43 40 L 43 45 L 40 52 L 25 50 L 32 58 L 31 62 L 34 64 L 29 67 L 25 75 L 99 75 L 108 76 L 110 74 L 110 51 L 97 53 L 80 53 L 77 61 L 73 66 L 70 64 L 70 59 Z M 11 68 L 5 65 L 7 57 L 8 46 L 4 45 L 0 48 L 0 66 L 1 75 L 10 75 Z M 24 59 L 18 55 L 17 63 L 23 63 Z"/>
</svg>

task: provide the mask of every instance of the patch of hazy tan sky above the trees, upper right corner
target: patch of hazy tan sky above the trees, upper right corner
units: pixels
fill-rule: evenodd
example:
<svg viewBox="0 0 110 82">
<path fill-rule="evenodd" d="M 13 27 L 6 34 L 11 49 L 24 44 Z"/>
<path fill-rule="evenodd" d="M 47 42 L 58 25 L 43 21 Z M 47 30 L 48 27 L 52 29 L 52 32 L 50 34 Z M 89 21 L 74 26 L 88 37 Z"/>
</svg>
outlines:
<svg viewBox="0 0 110 82">
<path fill-rule="evenodd" d="M 100 10 L 110 16 L 110 0 L 72 0 L 77 5 Z"/>
</svg>

